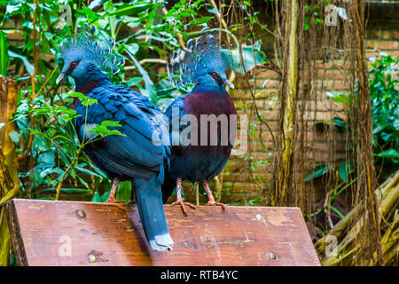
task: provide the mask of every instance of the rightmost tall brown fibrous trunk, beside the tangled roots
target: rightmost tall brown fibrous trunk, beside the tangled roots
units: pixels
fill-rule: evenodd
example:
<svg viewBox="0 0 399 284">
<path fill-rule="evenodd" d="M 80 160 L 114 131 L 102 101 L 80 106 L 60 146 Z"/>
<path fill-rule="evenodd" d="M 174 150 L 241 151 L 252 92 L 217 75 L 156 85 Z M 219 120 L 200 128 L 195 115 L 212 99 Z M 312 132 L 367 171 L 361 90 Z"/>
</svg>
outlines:
<svg viewBox="0 0 399 284">
<path fill-rule="evenodd" d="M 372 148 L 372 100 L 369 93 L 368 69 L 364 56 L 364 0 L 352 0 L 354 9 L 354 28 L 356 30 L 358 104 L 357 104 L 357 192 L 365 203 L 364 255 L 365 265 L 370 264 L 377 252 L 376 264 L 383 264 L 381 235 L 379 226 L 378 200 L 375 194 L 377 180 L 374 169 Z"/>
</svg>

